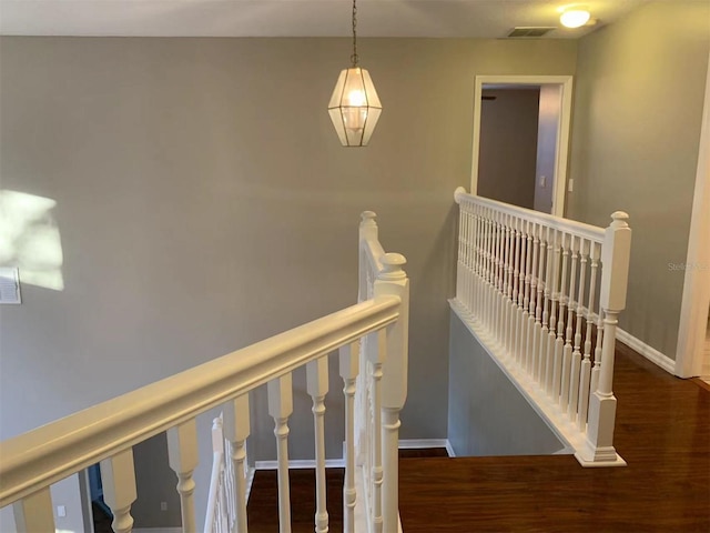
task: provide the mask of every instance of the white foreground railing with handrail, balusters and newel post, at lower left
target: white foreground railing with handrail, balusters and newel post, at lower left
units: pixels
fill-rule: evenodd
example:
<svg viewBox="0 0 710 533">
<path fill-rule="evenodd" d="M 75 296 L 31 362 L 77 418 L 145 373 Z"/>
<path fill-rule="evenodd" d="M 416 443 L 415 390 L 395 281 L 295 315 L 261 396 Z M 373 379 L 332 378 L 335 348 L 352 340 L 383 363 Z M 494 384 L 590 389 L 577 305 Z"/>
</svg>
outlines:
<svg viewBox="0 0 710 533">
<path fill-rule="evenodd" d="M 362 242 L 361 242 L 362 243 Z M 379 247 L 382 249 L 382 247 Z M 215 424 L 213 484 L 205 532 L 246 533 L 245 447 L 250 434 L 248 392 L 268 388 L 268 412 L 278 443 L 280 531 L 291 531 L 288 495 L 288 418 L 293 410 L 291 375 L 305 366 L 313 398 L 316 433 L 317 511 L 315 531 L 328 530 L 325 511 L 324 398 L 327 393 L 327 355 L 339 351 L 339 374 L 346 403 L 346 464 L 343 505 L 347 532 L 355 527 L 355 419 L 354 398 L 358 373 L 358 344 L 367 335 L 379 340 L 372 358 L 382 393 L 371 400 L 383 414 L 384 431 L 367 426 L 368 435 L 382 434 L 374 449 L 374 466 L 366 486 L 377 512 L 368 519 L 371 531 L 396 531 L 398 412 L 406 396 L 408 280 L 398 254 L 382 258 L 382 270 L 372 298 L 300 328 L 237 350 L 185 372 L 74 413 L 0 443 L 0 507 L 12 505 L 20 533 L 54 531 L 49 486 L 101 462 L 105 503 L 116 533 L 133 527 L 131 505 L 136 499 L 133 445 L 168 432 L 169 461 L 178 476 L 182 530 L 195 531 L 193 471 L 197 464 L 195 416 L 223 406 L 224 428 Z M 378 385 L 374 390 L 379 389 Z M 375 418 L 378 420 L 378 418 Z M 222 447 L 220 443 L 225 443 Z M 395 460 L 393 460 L 395 457 Z M 383 527 L 384 524 L 384 527 Z M 392 524 L 395 524 L 394 529 Z M 226 529 L 225 529 L 226 527 Z M 374 527 L 374 530 L 372 530 Z"/>
</svg>

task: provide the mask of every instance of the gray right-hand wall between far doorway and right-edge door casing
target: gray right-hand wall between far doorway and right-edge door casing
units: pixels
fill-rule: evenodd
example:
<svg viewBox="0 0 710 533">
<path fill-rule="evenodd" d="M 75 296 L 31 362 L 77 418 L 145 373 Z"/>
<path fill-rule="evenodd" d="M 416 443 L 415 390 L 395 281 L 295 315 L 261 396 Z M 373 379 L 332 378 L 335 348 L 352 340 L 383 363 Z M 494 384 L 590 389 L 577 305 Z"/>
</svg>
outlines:
<svg viewBox="0 0 710 533">
<path fill-rule="evenodd" d="M 710 47 L 710 3 L 651 2 L 581 39 L 568 215 L 633 230 L 620 325 L 676 356 Z"/>
</svg>

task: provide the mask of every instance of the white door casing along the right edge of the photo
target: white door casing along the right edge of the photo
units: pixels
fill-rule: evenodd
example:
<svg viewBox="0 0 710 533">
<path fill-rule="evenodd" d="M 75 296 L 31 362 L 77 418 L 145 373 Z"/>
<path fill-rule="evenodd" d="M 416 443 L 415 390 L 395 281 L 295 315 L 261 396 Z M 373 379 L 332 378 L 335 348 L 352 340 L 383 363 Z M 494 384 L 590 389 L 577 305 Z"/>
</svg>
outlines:
<svg viewBox="0 0 710 533">
<path fill-rule="evenodd" d="M 683 300 L 676 349 L 676 375 L 700 375 L 710 305 L 710 58 L 702 110 L 698 171 L 686 259 Z"/>
</svg>

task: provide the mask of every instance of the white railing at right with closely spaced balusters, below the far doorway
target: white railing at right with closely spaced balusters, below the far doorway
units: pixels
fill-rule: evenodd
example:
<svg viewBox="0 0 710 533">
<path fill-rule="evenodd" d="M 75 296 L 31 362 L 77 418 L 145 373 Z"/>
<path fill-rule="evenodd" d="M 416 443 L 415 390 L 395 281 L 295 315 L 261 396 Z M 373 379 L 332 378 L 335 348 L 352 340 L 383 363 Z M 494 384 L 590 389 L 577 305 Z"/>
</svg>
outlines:
<svg viewBox="0 0 710 533">
<path fill-rule="evenodd" d="M 613 447 L 612 378 L 617 319 L 626 306 L 628 215 L 615 212 L 605 230 L 463 188 L 455 199 L 454 308 L 582 465 L 626 464 Z"/>
</svg>

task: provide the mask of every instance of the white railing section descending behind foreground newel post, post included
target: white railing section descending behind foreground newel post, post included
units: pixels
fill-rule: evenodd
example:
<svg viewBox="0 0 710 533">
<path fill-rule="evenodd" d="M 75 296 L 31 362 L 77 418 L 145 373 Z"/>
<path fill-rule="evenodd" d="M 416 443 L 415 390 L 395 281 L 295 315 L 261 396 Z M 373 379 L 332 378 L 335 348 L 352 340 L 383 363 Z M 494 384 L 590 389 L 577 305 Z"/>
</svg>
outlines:
<svg viewBox="0 0 710 533">
<path fill-rule="evenodd" d="M 409 281 L 402 270 L 406 260 L 398 253 L 385 253 L 375 219 L 372 211 L 362 213 L 358 298 L 365 301 L 395 294 L 407 302 L 403 313 L 408 313 Z M 392 354 L 407 353 L 407 323 L 408 314 L 394 324 L 390 332 L 381 331 L 362 340 L 362 372 L 357 378 L 355 399 L 355 457 L 363 477 L 368 532 L 395 533 L 400 527 L 398 435 L 399 412 L 407 396 L 408 360 Z M 346 524 L 349 523 L 346 520 Z"/>
</svg>

